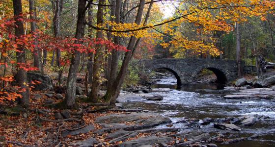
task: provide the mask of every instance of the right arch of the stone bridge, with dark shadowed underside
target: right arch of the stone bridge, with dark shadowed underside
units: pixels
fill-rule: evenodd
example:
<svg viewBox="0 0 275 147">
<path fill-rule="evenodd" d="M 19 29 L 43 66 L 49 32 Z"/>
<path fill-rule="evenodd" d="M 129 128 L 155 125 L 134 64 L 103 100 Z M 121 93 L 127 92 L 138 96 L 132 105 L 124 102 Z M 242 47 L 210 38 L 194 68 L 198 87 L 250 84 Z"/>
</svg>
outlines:
<svg viewBox="0 0 275 147">
<path fill-rule="evenodd" d="M 192 79 L 196 78 L 197 75 L 203 70 L 208 69 L 212 71 L 217 76 L 217 83 L 225 84 L 230 79 L 229 72 L 220 67 L 220 65 L 203 65 L 197 67 L 194 72 L 192 73 Z"/>
</svg>

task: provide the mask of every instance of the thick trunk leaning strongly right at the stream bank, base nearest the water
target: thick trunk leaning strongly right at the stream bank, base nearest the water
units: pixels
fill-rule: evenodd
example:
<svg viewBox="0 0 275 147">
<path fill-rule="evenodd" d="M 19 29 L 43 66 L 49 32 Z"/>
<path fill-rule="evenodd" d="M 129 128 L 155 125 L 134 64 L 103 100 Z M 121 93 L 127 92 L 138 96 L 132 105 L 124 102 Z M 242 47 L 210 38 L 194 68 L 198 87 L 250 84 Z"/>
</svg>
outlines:
<svg viewBox="0 0 275 147">
<path fill-rule="evenodd" d="M 135 21 L 135 23 L 138 25 L 141 22 L 144 5 L 145 5 L 145 0 L 140 0 L 139 6 L 138 6 L 138 14 L 137 14 L 136 21 Z M 107 89 L 105 97 L 107 100 L 110 100 L 110 105 L 115 105 L 115 100 L 120 93 L 122 83 L 123 83 L 126 73 L 128 71 L 128 65 L 131 60 L 131 56 L 133 53 L 133 48 L 135 46 L 136 40 L 137 40 L 137 38 L 135 36 L 132 36 L 130 38 L 130 41 L 129 41 L 129 44 L 127 47 L 127 49 L 129 49 L 130 51 L 125 53 L 120 71 L 119 71 L 114 83 L 112 84 L 112 86 L 109 89 Z"/>
</svg>

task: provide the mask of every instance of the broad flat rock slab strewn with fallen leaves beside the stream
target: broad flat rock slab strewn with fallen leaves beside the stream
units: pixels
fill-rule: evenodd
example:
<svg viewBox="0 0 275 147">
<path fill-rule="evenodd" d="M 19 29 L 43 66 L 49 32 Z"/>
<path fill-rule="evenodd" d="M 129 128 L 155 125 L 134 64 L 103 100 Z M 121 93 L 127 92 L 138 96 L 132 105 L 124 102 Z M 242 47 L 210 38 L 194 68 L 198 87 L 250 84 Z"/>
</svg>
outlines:
<svg viewBox="0 0 275 147">
<path fill-rule="evenodd" d="M 131 122 L 131 125 L 126 123 Z M 150 128 L 163 123 L 170 123 L 168 117 L 164 117 L 155 113 L 130 113 L 130 114 L 110 114 L 98 117 L 96 123 L 111 129 L 124 129 L 128 131 Z"/>
</svg>

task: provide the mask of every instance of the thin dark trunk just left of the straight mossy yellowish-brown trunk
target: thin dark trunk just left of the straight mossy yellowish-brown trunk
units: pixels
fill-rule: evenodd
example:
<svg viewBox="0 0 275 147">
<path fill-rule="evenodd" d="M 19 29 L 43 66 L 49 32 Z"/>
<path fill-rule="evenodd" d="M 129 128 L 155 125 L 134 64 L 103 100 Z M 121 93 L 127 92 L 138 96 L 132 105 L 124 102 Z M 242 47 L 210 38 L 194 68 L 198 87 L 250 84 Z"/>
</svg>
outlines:
<svg viewBox="0 0 275 147">
<path fill-rule="evenodd" d="M 92 20 L 93 20 L 93 8 L 92 5 L 89 5 L 89 9 L 88 9 L 88 23 L 92 24 Z M 92 38 L 92 27 L 88 26 L 88 33 L 89 33 L 89 37 Z M 92 79 L 93 79 L 93 60 L 94 60 L 94 54 L 93 53 L 89 53 L 88 54 L 88 61 L 87 61 L 87 70 L 88 70 L 88 83 L 91 84 L 92 83 Z"/>
</svg>

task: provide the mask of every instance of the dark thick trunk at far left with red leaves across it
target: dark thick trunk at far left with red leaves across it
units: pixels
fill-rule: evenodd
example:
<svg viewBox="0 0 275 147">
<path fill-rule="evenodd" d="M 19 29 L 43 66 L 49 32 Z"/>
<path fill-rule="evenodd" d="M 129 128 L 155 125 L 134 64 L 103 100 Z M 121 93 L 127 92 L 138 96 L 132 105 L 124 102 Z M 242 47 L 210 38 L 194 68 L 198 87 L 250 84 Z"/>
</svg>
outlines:
<svg viewBox="0 0 275 147">
<path fill-rule="evenodd" d="M 22 19 L 22 2 L 21 0 L 13 0 L 13 12 L 14 16 L 16 18 L 15 25 L 15 36 L 20 38 L 20 36 L 24 35 L 24 25 L 22 21 L 19 21 L 18 19 Z M 24 50 L 24 46 L 18 46 L 18 50 L 20 52 L 16 52 L 16 62 L 17 63 L 26 63 L 26 52 Z M 25 92 L 20 92 L 19 94 L 22 95 L 22 98 L 20 98 L 19 103 L 23 107 L 28 107 L 29 106 L 29 89 L 28 87 L 24 84 L 27 83 L 27 72 L 23 68 L 17 68 L 17 73 L 15 76 L 16 83 L 18 86 L 21 88 L 25 88 Z"/>
</svg>

